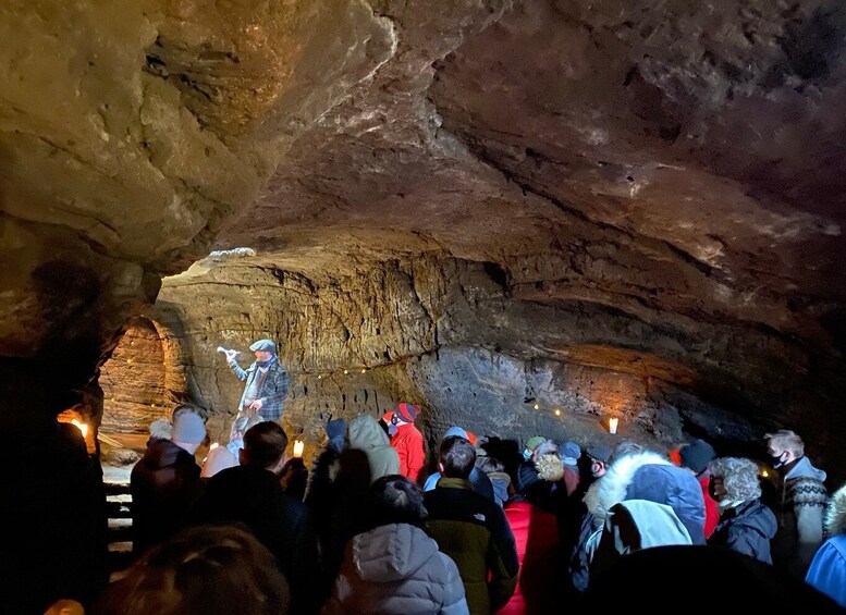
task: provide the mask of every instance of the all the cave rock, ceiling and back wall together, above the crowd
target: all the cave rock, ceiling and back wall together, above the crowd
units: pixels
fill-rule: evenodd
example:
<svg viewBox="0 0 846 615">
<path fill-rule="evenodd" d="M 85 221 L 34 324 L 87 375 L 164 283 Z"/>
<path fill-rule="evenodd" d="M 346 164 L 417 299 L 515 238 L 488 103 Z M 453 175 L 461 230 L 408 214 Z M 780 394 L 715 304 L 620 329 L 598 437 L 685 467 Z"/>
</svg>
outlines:
<svg viewBox="0 0 846 615">
<path fill-rule="evenodd" d="M 143 315 L 213 433 L 214 348 L 269 335 L 309 443 L 409 399 L 430 438 L 618 414 L 844 466 L 841 3 L 95 4 L 0 9 L 13 423 Z"/>
</svg>

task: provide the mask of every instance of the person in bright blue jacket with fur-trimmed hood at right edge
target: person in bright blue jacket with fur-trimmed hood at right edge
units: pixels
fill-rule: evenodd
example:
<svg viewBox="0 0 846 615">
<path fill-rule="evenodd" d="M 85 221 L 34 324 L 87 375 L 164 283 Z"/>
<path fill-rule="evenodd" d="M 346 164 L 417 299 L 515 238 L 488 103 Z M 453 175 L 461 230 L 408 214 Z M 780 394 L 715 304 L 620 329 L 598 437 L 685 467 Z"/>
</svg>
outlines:
<svg viewBox="0 0 846 615">
<path fill-rule="evenodd" d="M 825 514 L 825 534 L 805 581 L 846 608 L 846 485 L 832 495 Z"/>
</svg>

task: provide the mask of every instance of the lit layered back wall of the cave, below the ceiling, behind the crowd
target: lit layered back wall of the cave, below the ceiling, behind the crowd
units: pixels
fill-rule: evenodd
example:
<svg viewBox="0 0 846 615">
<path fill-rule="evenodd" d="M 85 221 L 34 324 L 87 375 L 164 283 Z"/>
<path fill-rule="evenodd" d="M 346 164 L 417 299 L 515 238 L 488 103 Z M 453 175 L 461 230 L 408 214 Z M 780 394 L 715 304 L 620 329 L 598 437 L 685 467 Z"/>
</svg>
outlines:
<svg viewBox="0 0 846 615">
<path fill-rule="evenodd" d="M 307 442 L 307 457 L 329 415 L 380 416 L 402 401 L 422 404 L 418 423 L 431 443 L 461 423 L 480 435 L 632 438 L 659 448 L 707 435 L 753 454 L 775 417 L 796 420 L 806 407 L 797 398 L 810 399 L 796 371 L 801 349 L 778 335 L 548 306 L 511 295 L 502 275 L 490 263 L 420 255 L 327 282 L 245 257 L 165 280 L 157 309 L 182 321 L 175 342 L 213 438 L 225 439 L 243 386 L 216 347 L 242 349 L 246 366 L 252 341 L 277 340 L 292 376 L 284 425 Z M 757 372 L 762 364 L 749 357 L 764 352 Z M 802 423 L 822 459 L 834 458 L 833 439 L 813 426 L 826 415 L 833 408 L 818 406 Z M 621 419 L 616 436 L 609 416 Z"/>
</svg>

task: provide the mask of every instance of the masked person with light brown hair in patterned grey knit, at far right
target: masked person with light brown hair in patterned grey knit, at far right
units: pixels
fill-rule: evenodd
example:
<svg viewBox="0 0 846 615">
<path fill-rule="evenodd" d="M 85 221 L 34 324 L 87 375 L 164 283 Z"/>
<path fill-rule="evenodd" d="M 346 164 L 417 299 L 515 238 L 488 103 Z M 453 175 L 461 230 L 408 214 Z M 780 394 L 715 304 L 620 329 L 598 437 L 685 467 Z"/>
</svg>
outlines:
<svg viewBox="0 0 846 615">
<path fill-rule="evenodd" d="M 767 452 L 783 476 L 781 501 L 774 508 L 778 530 L 772 541 L 773 563 L 801 579 L 823 539 L 829 495 L 825 472 L 805 456 L 805 443 L 790 430 L 767 434 Z"/>
</svg>

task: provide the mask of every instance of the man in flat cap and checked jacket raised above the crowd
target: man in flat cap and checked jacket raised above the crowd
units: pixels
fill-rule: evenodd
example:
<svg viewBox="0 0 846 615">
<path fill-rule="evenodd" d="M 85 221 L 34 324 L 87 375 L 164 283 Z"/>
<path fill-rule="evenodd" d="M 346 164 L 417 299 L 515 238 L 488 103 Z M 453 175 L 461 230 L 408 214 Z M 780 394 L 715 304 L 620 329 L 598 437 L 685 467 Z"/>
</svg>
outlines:
<svg viewBox="0 0 846 615">
<path fill-rule="evenodd" d="M 279 362 L 277 345 L 270 340 L 259 340 L 249 349 L 256 360 L 247 369 L 242 369 L 235 360 L 237 350 L 224 350 L 229 367 L 238 380 L 247 381 L 238 414 L 252 417 L 258 413 L 265 420 L 278 421 L 287 397 L 287 371 Z"/>
</svg>

